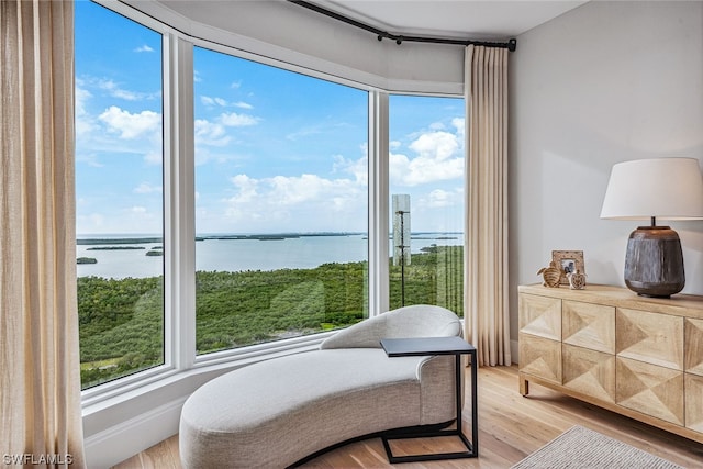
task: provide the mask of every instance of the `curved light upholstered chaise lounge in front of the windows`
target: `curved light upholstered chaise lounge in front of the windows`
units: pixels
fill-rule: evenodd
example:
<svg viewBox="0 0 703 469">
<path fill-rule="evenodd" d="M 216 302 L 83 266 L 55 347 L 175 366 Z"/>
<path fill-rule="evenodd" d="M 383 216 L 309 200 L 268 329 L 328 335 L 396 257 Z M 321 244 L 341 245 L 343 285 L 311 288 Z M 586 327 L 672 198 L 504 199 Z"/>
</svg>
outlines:
<svg viewBox="0 0 703 469">
<path fill-rule="evenodd" d="M 454 357 L 389 358 L 379 342 L 460 334 L 453 312 L 405 306 L 338 332 L 319 350 L 215 378 L 183 405 L 183 467 L 282 468 L 360 436 L 450 422 Z"/>
</svg>

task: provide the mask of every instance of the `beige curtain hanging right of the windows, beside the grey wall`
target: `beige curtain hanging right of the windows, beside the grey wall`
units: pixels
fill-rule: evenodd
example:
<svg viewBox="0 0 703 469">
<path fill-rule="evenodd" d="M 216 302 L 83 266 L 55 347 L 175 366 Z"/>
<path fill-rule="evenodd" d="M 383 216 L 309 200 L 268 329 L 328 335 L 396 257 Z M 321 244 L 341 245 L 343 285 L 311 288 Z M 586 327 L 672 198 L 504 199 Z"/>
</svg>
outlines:
<svg viewBox="0 0 703 469">
<path fill-rule="evenodd" d="M 469 45 L 465 60 L 465 335 L 479 365 L 510 365 L 507 49 Z"/>
</svg>

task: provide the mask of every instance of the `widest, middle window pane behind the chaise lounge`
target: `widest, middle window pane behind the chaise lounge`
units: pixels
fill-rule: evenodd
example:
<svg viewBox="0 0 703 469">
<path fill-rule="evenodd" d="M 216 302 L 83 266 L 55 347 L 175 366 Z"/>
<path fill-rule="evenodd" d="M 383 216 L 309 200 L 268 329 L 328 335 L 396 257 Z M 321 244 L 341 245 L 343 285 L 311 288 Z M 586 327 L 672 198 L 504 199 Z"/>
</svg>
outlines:
<svg viewBox="0 0 703 469">
<path fill-rule="evenodd" d="M 367 92 L 194 49 L 197 350 L 367 312 Z"/>
</svg>

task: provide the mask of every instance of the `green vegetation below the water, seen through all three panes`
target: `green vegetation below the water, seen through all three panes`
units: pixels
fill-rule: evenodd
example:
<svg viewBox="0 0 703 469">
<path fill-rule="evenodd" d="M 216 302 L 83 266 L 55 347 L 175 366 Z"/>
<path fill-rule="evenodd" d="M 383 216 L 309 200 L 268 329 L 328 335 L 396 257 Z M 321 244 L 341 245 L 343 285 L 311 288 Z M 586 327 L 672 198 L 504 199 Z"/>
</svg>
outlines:
<svg viewBox="0 0 703 469">
<path fill-rule="evenodd" d="M 366 263 L 196 272 L 196 347 L 207 354 L 346 327 L 368 316 Z M 405 304 L 462 313 L 462 247 L 429 247 L 405 266 Z M 391 308 L 401 268 L 390 269 Z M 82 388 L 164 362 L 163 277 L 78 279 Z"/>
</svg>

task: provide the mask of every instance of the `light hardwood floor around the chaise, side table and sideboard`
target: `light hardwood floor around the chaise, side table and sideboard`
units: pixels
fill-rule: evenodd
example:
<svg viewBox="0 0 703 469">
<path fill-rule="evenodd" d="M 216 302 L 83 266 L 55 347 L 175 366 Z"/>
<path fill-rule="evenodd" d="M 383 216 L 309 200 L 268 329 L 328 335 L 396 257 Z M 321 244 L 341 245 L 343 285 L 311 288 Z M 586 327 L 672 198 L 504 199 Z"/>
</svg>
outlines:
<svg viewBox="0 0 703 469">
<path fill-rule="evenodd" d="M 466 373 L 467 378 L 470 373 Z M 581 425 L 677 462 L 703 468 L 703 445 L 649 425 L 604 411 L 537 384 L 529 397 L 517 390 L 517 368 L 479 369 L 479 458 L 390 465 L 379 438 L 346 445 L 326 453 L 304 468 L 509 468 L 573 425 Z M 467 389 L 470 389 L 467 386 Z M 470 400 L 467 398 L 466 403 Z M 470 432 L 470 404 L 464 413 Z M 413 440 L 408 451 L 447 450 L 453 442 Z M 412 446 L 412 447 L 411 447 Z M 115 466 L 116 469 L 178 469 L 178 435 Z"/>
</svg>

